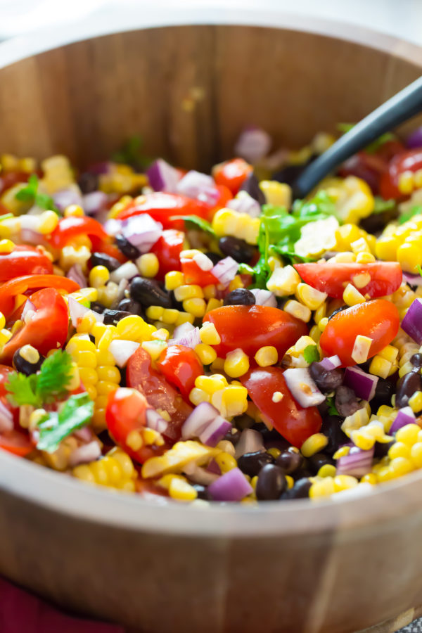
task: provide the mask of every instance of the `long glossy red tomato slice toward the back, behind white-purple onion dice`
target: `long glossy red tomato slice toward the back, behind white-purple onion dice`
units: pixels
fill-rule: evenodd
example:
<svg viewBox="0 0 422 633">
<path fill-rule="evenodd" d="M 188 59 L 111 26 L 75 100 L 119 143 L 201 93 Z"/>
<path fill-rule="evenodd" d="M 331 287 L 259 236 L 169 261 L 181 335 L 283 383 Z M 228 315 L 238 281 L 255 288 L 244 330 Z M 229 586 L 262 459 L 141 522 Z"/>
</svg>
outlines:
<svg viewBox="0 0 422 633">
<path fill-rule="evenodd" d="M 135 198 L 124 210 L 120 211 L 117 219 L 123 220 L 143 213 L 148 213 L 156 222 L 161 222 L 165 229 L 183 229 L 184 222 L 177 219 L 178 216 L 199 215 L 207 219 L 210 215 L 210 207 L 200 200 L 193 200 L 187 196 L 155 191 Z"/>
</svg>

